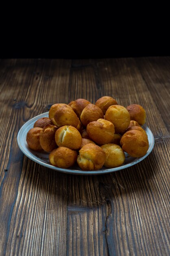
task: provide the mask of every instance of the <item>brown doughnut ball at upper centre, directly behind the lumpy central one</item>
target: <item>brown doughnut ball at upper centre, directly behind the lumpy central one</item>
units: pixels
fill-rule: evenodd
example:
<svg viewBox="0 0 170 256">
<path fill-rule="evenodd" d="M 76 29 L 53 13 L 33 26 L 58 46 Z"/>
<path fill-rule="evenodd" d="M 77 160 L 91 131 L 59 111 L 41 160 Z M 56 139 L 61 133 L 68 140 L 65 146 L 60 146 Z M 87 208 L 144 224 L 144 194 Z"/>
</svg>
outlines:
<svg viewBox="0 0 170 256">
<path fill-rule="evenodd" d="M 103 118 L 102 110 L 94 105 L 88 104 L 81 113 L 81 122 L 84 126 L 87 126 L 90 122 L 97 121 L 99 118 Z"/>
</svg>

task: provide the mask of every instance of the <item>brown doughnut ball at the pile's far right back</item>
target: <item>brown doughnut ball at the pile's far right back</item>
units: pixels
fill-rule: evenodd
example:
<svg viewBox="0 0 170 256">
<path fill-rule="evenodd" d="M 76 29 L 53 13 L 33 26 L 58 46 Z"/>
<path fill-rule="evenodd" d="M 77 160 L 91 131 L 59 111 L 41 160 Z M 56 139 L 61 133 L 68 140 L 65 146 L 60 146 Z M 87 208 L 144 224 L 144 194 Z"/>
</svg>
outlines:
<svg viewBox="0 0 170 256">
<path fill-rule="evenodd" d="M 139 125 L 143 125 L 146 121 L 146 112 L 144 108 L 137 104 L 132 104 L 126 108 L 130 114 L 131 120 L 137 121 Z"/>
</svg>

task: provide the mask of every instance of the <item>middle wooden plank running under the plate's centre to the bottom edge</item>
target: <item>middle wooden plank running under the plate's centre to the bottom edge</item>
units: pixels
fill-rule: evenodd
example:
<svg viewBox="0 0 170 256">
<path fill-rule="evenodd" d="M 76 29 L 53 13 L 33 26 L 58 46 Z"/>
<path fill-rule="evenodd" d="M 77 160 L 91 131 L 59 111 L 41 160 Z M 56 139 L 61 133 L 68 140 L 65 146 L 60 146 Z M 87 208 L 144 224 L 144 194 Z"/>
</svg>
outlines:
<svg viewBox="0 0 170 256">
<path fill-rule="evenodd" d="M 76 91 L 76 98 L 71 92 Z M 84 98 L 92 103 L 100 97 L 94 63 L 73 61 L 70 76 L 70 99 Z M 95 181 L 95 182 L 93 182 Z M 95 177 L 68 178 L 67 255 L 105 255 L 105 206 Z M 96 254 L 97 253 L 97 254 Z"/>
</svg>

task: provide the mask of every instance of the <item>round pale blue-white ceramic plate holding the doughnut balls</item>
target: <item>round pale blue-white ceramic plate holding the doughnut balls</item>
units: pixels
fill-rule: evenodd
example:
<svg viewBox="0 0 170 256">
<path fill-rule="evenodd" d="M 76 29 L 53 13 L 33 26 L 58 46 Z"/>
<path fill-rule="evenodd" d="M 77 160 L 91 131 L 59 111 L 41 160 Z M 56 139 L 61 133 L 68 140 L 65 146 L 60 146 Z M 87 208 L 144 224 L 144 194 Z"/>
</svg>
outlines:
<svg viewBox="0 0 170 256">
<path fill-rule="evenodd" d="M 124 168 L 130 167 L 134 164 L 137 164 L 137 163 L 141 162 L 153 150 L 153 146 L 154 146 L 153 133 L 151 132 L 151 130 L 146 125 L 144 125 L 143 128 L 144 128 L 144 130 L 146 131 L 146 133 L 148 135 L 149 148 L 148 148 L 148 151 L 147 151 L 146 155 L 144 155 L 143 157 L 135 158 L 135 157 L 131 157 L 128 154 L 125 153 L 126 159 L 125 159 L 124 164 L 122 164 L 121 166 L 119 166 L 117 168 L 107 168 L 107 167 L 103 166 L 102 169 L 100 169 L 98 171 L 82 171 L 81 168 L 79 168 L 77 164 L 70 167 L 69 169 L 58 168 L 58 167 L 52 166 L 50 164 L 49 159 L 48 159 L 49 153 L 47 153 L 45 151 L 41 152 L 41 153 L 37 152 L 37 151 L 33 151 L 33 150 L 28 148 L 28 145 L 26 143 L 27 132 L 31 128 L 33 128 L 33 125 L 34 125 L 35 121 L 37 121 L 41 117 L 48 117 L 48 112 L 43 113 L 41 115 L 38 115 L 37 117 L 33 117 L 32 119 L 27 121 L 21 127 L 21 129 L 18 132 L 17 143 L 18 143 L 18 146 L 20 147 L 20 149 L 22 150 L 22 152 L 24 153 L 24 155 L 29 157 L 34 162 L 36 162 L 38 164 L 41 164 L 42 166 L 46 166 L 46 167 L 48 167 L 50 169 L 53 169 L 55 171 L 60 171 L 62 173 L 79 174 L 79 175 L 95 175 L 95 174 L 112 173 L 112 172 L 122 170 Z"/>
</svg>

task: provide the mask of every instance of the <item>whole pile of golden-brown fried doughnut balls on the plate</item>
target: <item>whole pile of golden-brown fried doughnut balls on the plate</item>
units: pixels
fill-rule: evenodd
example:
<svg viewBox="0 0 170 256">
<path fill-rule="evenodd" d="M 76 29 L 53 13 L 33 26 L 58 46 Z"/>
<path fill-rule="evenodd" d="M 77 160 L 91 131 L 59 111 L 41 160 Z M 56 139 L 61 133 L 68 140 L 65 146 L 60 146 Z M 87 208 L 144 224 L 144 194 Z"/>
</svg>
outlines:
<svg viewBox="0 0 170 256">
<path fill-rule="evenodd" d="M 53 166 L 69 168 L 77 162 L 84 171 L 115 168 L 124 163 L 124 152 L 132 157 L 146 154 L 145 119 L 144 108 L 137 104 L 125 108 L 109 96 L 95 104 L 76 99 L 52 105 L 49 118 L 38 119 L 26 141 L 31 150 L 50 152 Z"/>
</svg>

